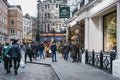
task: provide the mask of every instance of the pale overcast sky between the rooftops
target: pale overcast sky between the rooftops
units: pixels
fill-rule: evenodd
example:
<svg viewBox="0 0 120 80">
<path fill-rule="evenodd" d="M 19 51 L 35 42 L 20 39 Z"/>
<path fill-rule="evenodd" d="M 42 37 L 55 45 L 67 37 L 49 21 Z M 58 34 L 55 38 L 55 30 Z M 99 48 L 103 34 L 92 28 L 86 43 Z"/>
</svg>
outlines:
<svg viewBox="0 0 120 80">
<path fill-rule="evenodd" d="M 42 0 L 41 0 L 42 1 Z M 8 0 L 10 5 L 21 5 L 23 15 L 37 16 L 37 0 Z"/>
</svg>

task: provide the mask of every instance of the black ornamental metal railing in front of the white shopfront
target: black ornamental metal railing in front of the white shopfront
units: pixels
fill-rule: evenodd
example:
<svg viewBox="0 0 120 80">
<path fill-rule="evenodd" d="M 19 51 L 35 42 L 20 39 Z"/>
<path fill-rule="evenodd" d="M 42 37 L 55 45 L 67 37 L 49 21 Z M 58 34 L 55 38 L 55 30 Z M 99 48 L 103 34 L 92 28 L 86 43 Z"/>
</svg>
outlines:
<svg viewBox="0 0 120 80">
<path fill-rule="evenodd" d="M 112 73 L 112 61 L 116 58 L 116 52 L 85 51 L 85 63 Z"/>
</svg>

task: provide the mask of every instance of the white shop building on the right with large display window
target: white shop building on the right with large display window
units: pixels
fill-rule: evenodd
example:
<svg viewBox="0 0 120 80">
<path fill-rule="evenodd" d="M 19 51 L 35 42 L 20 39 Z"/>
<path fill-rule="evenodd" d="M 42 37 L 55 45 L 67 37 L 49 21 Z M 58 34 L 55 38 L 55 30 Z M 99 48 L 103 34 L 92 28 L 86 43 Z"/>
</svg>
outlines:
<svg viewBox="0 0 120 80">
<path fill-rule="evenodd" d="M 84 25 L 84 48 L 99 52 L 115 50 L 120 53 L 120 0 L 80 0 L 77 12 L 66 21 Z M 81 27 L 81 26 L 79 26 Z M 120 77 L 120 55 L 113 61 L 113 75 Z"/>
</svg>

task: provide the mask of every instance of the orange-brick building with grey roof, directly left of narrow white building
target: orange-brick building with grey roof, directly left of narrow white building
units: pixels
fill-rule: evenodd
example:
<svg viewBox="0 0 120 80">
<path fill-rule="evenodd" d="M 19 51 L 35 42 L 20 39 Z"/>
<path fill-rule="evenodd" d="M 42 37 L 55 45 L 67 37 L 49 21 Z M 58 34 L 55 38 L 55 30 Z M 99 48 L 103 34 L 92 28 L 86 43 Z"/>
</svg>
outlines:
<svg viewBox="0 0 120 80">
<path fill-rule="evenodd" d="M 10 5 L 8 8 L 8 36 L 9 39 L 18 39 L 22 42 L 23 20 L 22 9 L 19 5 Z"/>
</svg>

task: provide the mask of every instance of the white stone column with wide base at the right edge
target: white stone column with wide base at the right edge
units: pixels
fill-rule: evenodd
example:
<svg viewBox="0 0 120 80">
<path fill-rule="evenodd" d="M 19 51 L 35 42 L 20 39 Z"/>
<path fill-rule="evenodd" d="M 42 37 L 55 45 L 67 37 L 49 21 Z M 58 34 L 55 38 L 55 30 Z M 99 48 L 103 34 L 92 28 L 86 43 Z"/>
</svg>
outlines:
<svg viewBox="0 0 120 80">
<path fill-rule="evenodd" d="M 117 59 L 113 61 L 113 75 L 120 77 L 120 1 L 117 3 Z"/>
</svg>

